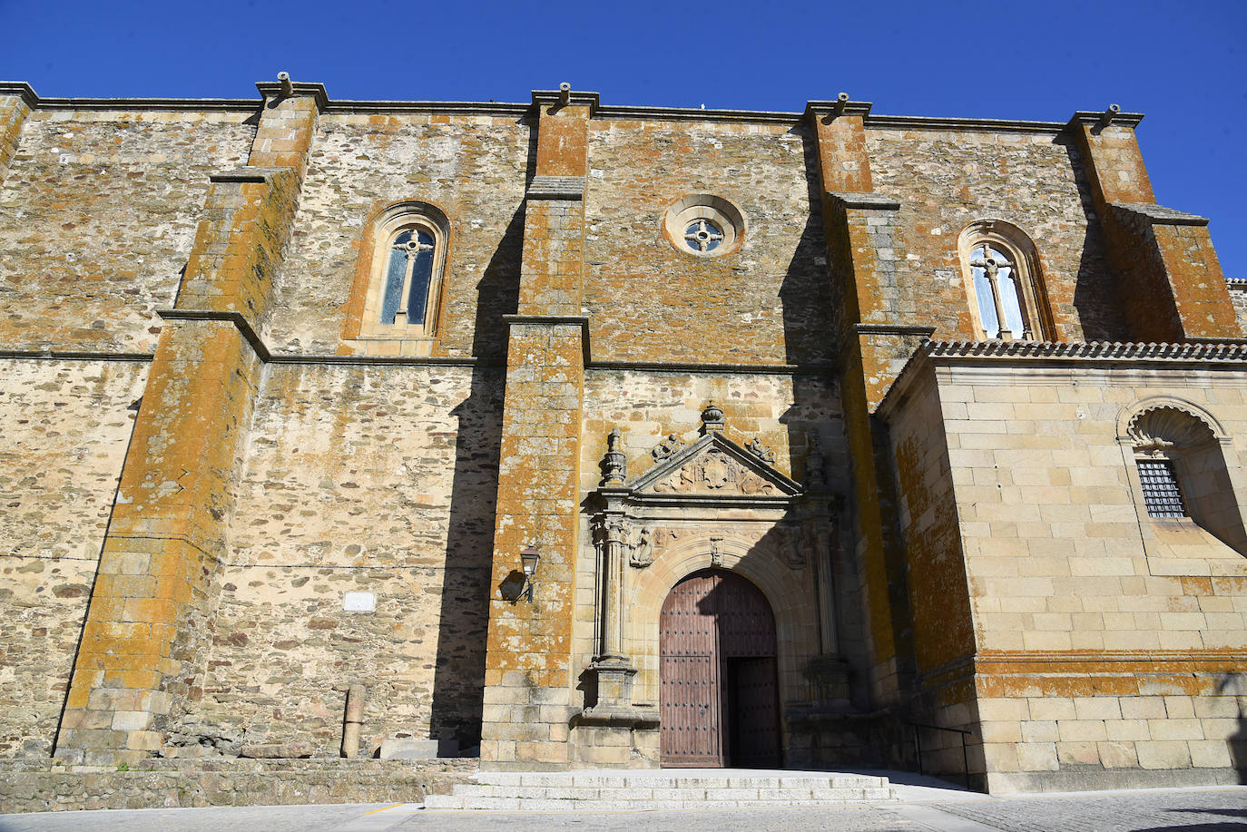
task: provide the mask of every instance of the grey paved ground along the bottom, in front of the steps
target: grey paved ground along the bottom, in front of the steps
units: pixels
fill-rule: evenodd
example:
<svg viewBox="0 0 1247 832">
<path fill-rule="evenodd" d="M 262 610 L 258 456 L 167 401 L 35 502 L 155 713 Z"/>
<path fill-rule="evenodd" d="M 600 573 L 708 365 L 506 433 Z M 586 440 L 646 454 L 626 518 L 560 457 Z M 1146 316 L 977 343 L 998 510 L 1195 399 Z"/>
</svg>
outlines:
<svg viewBox="0 0 1247 832">
<path fill-rule="evenodd" d="M 0 816 L 2 832 L 1247 832 L 1247 787 L 955 802 L 658 812 L 450 812 L 413 805 L 244 806 Z"/>
</svg>

